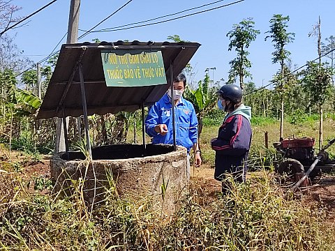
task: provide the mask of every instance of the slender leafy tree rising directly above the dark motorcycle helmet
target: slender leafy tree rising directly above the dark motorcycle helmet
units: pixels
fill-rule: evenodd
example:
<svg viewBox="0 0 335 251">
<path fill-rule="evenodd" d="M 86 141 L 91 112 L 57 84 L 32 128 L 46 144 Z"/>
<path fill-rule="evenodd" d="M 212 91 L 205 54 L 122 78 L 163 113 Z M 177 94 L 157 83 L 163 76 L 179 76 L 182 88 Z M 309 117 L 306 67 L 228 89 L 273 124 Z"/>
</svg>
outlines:
<svg viewBox="0 0 335 251">
<path fill-rule="evenodd" d="M 259 30 L 254 29 L 254 25 L 252 18 L 244 19 L 239 24 L 234 24 L 233 29 L 227 33 L 230 39 L 228 50 L 231 51 L 234 48 L 237 52 L 237 57 L 229 62 L 231 68 L 228 83 L 236 82 L 239 77 L 241 89 L 244 88 L 244 77 L 252 78 L 251 73 L 247 70 L 251 68 L 251 61 L 247 58 L 249 52 L 246 49 L 260 33 Z"/>
</svg>

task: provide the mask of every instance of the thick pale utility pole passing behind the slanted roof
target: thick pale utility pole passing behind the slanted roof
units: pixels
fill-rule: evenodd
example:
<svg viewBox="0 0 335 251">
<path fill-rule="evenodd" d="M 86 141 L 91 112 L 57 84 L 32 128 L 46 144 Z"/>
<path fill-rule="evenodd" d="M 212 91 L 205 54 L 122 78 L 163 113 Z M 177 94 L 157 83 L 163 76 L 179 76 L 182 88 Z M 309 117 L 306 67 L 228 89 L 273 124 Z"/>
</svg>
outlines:
<svg viewBox="0 0 335 251">
<path fill-rule="evenodd" d="M 79 26 L 79 9 L 80 0 L 70 0 L 70 14 L 68 16 L 68 37 L 66 43 L 77 43 L 78 40 L 78 26 Z M 66 118 L 66 125 L 68 125 L 68 118 Z M 68 128 L 66 128 L 67 133 Z M 65 137 L 63 119 L 57 119 L 57 131 L 54 153 L 65 151 Z"/>
</svg>

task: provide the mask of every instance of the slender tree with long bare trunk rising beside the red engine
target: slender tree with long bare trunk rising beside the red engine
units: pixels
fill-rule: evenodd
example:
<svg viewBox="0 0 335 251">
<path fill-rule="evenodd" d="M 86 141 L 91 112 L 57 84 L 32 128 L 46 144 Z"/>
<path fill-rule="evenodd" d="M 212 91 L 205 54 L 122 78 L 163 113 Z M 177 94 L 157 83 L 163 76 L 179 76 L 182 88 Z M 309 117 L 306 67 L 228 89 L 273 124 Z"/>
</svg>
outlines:
<svg viewBox="0 0 335 251">
<path fill-rule="evenodd" d="M 272 52 L 274 56 L 272 58 L 272 63 L 280 63 L 281 64 L 281 79 L 279 79 L 279 91 L 281 98 L 281 128 L 280 128 L 280 137 L 283 137 L 283 121 L 284 121 L 284 61 L 288 59 L 290 56 L 290 52 L 285 50 L 285 45 L 291 43 L 295 38 L 295 33 L 289 33 L 286 31 L 288 28 L 288 21 L 290 17 L 283 17 L 282 15 L 276 14 L 270 20 L 270 30 L 266 33 L 270 33 L 271 35 L 266 36 L 265 40 L 271 38 L 271 42 L 274 43 L 275 51 Z"/>
</svg>

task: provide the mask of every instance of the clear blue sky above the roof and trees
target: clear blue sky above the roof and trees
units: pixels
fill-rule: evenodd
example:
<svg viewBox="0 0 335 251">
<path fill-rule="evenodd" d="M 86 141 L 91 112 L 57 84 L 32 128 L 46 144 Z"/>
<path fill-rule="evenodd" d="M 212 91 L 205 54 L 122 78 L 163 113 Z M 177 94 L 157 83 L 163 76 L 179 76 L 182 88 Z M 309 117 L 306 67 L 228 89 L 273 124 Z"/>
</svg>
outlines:
<svg viewBox="0 0 335 251">
<path fill-rule="evenodd" d="M 18 14 L 29 15 L 50 1 L 13 0 L 12 3 L 22 7 Z M 83 0 L 80 6 L 80 29 L 91 29 L 127 1 Z M 214 0 L 133 0 L 96 29 L 140 22 L 212 2 Z M 221 1 L 198 10 L 191 10 L 184 15 L 232 2 L 234 0 Z M 50 54 L 66 33 L 69 7 L 70 0 L 58 0 L 31 17 L 26 26 L 8 31 L 8 34 L 13 36 L 16 33 L 15 43 L 20 50 L 24 51 L 25 55 L 41 55 L 29 56 L 31 60 L 37 62 Z M 334 7 L 334 0 L 245 0 L 232 6 L 163 24 L 124 31 L 90 33 L 79 42 L 91 42 L 94 38 L 109 42 L 117 40 L 163 42 L 167 40 L 168 36 L 177 34 L 184 40 L 202 44 L 191 60 L 195 73 L 193 81 L 203 79 L 206 68 L 216 68 L 216 70 L 209 71 L 211 78 L 214 76 L 214 82 L 216 82 L 221 78 L 228 79 L 229 61 L 235 57 L 234 52 L 228 52 L 229 40 L 226 34 L 232 29 L 233 24 L 241 22 L 244 18 L 253 17 L 255 29 L 259 29 L 261 33 L 249 47 L 249 59 L 253 63 L 250 71 L 256 86 L 262 86 L 262 84 L 269 83 L 272 75 L 280 67 L 278 64 L 271 63 L 271 53 L 274 51 L 274 47 L 270 40 L 265 41 L 265 32 L 269 31 L 269 20 L 272 15 L 290 16 L 288 32 L 295 33 L 295 41 L 286 49 L 292 53 L 292 63 L 299 67 L 318 56 L 317 38 L 308 38 L 308 33 L 317 24 L 319 15 L 322 41 L 325 41 L 325 38 L 329 36 L 335 36 Z M 80 31 L 79 36 L 82 33 Z M 66 38 L 62 43 L 66 43 Z"/>
</svg>

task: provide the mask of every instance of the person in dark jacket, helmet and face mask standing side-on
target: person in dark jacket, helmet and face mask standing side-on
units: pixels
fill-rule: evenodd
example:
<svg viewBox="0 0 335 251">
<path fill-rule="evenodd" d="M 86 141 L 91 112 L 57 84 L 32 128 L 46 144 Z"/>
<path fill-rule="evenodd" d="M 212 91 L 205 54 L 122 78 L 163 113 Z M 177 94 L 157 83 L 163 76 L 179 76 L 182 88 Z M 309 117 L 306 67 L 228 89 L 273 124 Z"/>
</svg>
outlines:
<svg viewBox="0 0 335 251">
<path fill-rule="evenodd" d="M 218 137 L 211 140 L 211 148 L 216 152 L 214 178 L 223 181 L 225 174 L 230 173 L 235 181 L 244 182 L 252 135 L 251 107 L 241 103 L 239 86 L 226 84 L 217 93 L 219 109 L 228 114 L 218 129 Z"/>
</svg>

